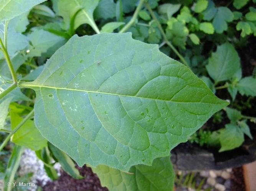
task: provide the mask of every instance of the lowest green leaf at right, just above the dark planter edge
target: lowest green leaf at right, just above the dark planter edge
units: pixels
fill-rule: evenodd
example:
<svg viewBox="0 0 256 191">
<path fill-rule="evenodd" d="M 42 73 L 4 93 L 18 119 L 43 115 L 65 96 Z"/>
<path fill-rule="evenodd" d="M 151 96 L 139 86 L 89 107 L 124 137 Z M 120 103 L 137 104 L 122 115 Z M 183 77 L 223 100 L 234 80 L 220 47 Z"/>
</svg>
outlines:
<svg viewBox="0 0 256 191">
<path fill-rule="evenodd" d="M 229 123 L 221 129 L 219 140 L 221 144 L 219 152 L 229 151 L 241 146 L 244 142 L 244 134 L 237 125 Z"/>
</svg>

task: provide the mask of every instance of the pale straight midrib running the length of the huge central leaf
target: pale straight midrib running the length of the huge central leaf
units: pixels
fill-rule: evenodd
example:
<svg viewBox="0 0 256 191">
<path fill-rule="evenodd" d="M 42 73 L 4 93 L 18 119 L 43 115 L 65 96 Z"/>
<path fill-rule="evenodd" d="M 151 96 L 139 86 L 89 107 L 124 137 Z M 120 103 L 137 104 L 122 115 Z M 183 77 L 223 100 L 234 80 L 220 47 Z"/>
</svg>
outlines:
<svg viewBox="0 0 256 191">
<path fill-rule="evenodd" d="M 116 95 L 116 96 L 124 96 L 124 97 L 136 97 L 136 98 L 141 98 L 141 99 L 161 100 L 161 101 L 167 101 L 167 102 L 173 102 L 173 103 L 179 103 L 179 104 L 211 104 L 211 105 L 223 104 L 223 103 L 207 103 L 207 102 L 176 102 L 176 101 L 172 101 L 172 100 L 154 99 L 154 98 L 150 98 L 150 97 L 140 97 L 140 96 L 134 96 L 134 95 L 113 94 L 113 93 L 107 93 L 107 92 L 98 92 L 98 91 L 90 91 L 90 90 L 82 90 L 82 89 L 71 89 L 71 88 L 67 88 L 67 87 L 54 87 L 54 86 L 46 86 L 46 85 L 39 85 L 39 84 L 31 84 L 30 82 L 28 82 L 28 83 L 21 82 L 21 83 L 19 83 L 19 86 L 28 87 L 28 88 L 32 88 L 32 89 L 33 89 L 33 87 L 39 87 L 39 88 L 63 89 L 63 90 L 69 90 L 69 91 Z"/>
</svg>

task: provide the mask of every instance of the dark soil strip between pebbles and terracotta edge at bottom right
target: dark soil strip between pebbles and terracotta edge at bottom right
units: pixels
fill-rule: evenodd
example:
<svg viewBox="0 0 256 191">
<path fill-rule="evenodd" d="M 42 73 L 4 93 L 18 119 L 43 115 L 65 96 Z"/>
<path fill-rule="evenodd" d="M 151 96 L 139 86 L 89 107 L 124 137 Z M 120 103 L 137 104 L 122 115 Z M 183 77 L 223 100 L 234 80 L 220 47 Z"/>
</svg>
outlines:
<svg viewBox="0 0 256 191">
<path fill-rule="evenodd" d="M 231 177 L 231 191 L 245 191 L 243 168 L 233 168 L 233 175 Z"/>
</svg>

